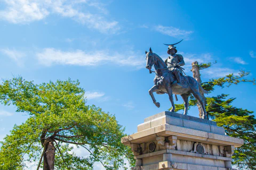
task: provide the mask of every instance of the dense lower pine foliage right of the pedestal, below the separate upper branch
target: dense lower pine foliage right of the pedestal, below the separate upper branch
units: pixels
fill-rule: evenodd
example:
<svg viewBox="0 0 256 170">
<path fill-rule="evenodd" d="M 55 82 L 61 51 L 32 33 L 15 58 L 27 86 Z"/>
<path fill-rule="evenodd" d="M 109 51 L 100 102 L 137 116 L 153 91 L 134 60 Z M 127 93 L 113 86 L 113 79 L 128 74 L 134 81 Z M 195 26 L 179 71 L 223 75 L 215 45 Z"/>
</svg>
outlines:
<svg viewBox="0 0 256 170">
<path fill-rule="evenodd" d="M 256 169 L 256 119 L 252 111 L 231 105 L 235 98 L 228 95 L 207 97 L 206 111 L 230 137 L 241 138 L 244 145 L 235 150 L 234 164 L 241 169 Z"/>
</svg>

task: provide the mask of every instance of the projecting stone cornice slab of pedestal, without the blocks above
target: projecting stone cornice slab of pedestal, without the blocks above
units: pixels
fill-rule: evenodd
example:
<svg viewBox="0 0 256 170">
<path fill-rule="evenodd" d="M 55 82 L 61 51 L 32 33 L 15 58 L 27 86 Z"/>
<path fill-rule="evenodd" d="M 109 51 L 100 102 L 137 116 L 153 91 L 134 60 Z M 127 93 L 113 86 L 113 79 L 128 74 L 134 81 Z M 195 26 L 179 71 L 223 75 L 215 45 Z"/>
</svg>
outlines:
<svg viewBox="0 0 256 170">
<path fill-rule="evenodd" d="M 175 135 L 180 140 L 203 142 L 217 146 L 241 147 L 244 143 L 243 139 L 170 124 L 159 125 L 154 128 L 131 134 L 123 137 L 121 141 L 124 145 L 130 145 L 130 143 L 140 144 L 155 140 L 158 136 L 169 137 L 170 135 Z"/>
</svg>

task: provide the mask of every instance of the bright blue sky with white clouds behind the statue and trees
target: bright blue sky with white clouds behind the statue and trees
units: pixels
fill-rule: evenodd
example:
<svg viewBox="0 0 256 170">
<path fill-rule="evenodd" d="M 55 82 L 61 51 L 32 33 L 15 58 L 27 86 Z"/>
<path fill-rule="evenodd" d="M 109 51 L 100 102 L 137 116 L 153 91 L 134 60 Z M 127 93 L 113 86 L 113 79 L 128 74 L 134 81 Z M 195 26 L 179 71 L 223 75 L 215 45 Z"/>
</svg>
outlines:
<svg viewBox="0 0 256 170">
<path fill-rule="evenodd" d="M 22 75 L 35 83 L 79 80 L 87 104 L 115 114 L 126 133 L 145 117 L 171 107 L 167 95 L 148 95 L 154 74 L 145 68 L 145 50 L 164 60 L 177 45 L 191 75 L 191 62 L 214 62 L 203 81 L 239 70 L 255 77 L 255 1 L 90 1 L 0 0 L 0 77 Z M 256 111 L 255 87 L 243 83 L 216 88 L 234 105 Z M 179 97 L 179 101 L 182 99 Z M 197 108 L 189 115 L 198 116 Z M 26 121 L 15 107 L 0 105 L 0 140 Z"/>
</svg>

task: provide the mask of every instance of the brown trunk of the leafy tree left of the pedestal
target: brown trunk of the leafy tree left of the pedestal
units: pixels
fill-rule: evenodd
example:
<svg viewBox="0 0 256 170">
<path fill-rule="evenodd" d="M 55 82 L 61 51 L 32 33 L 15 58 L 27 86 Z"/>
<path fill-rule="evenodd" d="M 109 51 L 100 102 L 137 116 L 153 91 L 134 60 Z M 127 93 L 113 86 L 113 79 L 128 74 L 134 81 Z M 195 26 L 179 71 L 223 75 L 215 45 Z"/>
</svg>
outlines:
<svg viewBox="0 0 256 170">
<path fill-rule="evenodd" d="M 54 156 L 55 147 L 52 140 L 45 140 L 45 152 L 44 152 L 44 169 L 43 170 L 53 170 L 54 169 Z"/>
</svg>

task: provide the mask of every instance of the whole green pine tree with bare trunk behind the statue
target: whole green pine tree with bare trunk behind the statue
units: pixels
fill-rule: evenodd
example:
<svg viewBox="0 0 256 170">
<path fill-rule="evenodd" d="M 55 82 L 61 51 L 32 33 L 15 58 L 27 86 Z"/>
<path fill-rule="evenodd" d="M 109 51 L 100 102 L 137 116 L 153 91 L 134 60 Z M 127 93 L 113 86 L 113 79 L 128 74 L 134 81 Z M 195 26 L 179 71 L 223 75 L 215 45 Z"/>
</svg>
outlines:
<svg viewBox="0 0 256 170">
<path fill-rule="evenodd" d="M 216 62 L 215 62 L 216 63 Z M 213 63 L 213 64 L 215 64 Z M 208 82 L 201 81 L 199 70 L 207 69 L 213 65 L 212 63 L 198 64 L 192 63 L 193 77 L 202 84 L 202 87 L 212 92 L 215 86 L 221 88 L 230 87 L 232 84 L 240 82 L 251 82 L 255 85 L 255 79 L 245 79 L 250 72 L 240 71 L 238 75 L 229 74 L 223 78 L 210 79 Z M 212 121 L 217 122 L 218 126 L 225 128 L 226 133 L 230 137 L 241 138 L 244 145 L 235 150 L 233 155 L 233 164 L 239 169 L 256 169 L 256 119 L 252 111 L 232 106 L 235 98 L 228 98 L 228 95 L 221 94 L 213 97 L 206 97 L 206 112 Z M 189 105 L 198 106 L 199 116 L 202 113 L 201 106 L 197 100 L 190 96 Z M 176 105 L 176 110 L 184 109 L 183 104 Z"/>
</svg>

